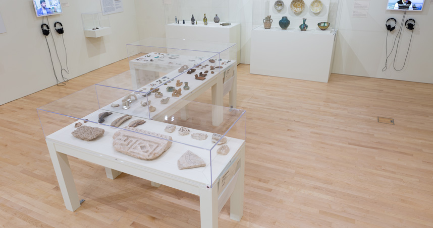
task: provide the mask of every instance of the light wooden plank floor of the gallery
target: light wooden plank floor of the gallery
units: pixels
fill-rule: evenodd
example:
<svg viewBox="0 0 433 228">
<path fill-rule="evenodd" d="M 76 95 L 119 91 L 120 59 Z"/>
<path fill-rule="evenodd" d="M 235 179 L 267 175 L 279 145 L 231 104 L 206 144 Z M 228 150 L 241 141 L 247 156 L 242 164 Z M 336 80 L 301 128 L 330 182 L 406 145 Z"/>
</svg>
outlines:
<svg viewBox="0 0 433 228">
<path fill-rule="evenodd" d="M 75 212 L 63 204 L 36 108 L 128 69 L 122 60 L 0 106 L 1 227 L 199 226 L 198 196 L 127 174 L 110 180 L 74 158 L 86 201 Z M 210 91 L 200 98 L 209 100 Z M 433 227 L 433 85 L 338 74 L 324 84 L 241 64 L 238 108 L 244 216 L 230 220 L 226 205 L 220 227 Z"/>
</svg>

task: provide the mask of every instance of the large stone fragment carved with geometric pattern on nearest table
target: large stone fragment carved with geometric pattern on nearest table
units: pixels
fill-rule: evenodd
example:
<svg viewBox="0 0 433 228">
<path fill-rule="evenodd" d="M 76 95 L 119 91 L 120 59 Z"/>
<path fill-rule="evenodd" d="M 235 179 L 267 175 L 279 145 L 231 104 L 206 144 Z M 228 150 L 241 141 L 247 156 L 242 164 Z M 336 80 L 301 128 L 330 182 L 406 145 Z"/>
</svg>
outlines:
<svg viewBox="0 0 433 228">
<path fill-rule="evenodd" d="M 172 137 L 142 129 L 125 127 L 113 135 L 116 151 L 142 160 L 158 158 L 172 145 Z"/>
</svg>

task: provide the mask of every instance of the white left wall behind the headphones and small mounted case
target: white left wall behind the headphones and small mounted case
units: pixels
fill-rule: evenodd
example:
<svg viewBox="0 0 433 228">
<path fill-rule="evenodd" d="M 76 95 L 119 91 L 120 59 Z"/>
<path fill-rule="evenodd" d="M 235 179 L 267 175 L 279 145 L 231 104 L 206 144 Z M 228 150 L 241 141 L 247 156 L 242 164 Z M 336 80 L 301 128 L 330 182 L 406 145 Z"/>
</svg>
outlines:
<svg viewBox="0 0 433 228">
<path fill-rule="evenodd" d="M 70 7 L 60 15 L 49 16 L 49 27 L 65 66 L 62 36 L 54 30 L 54 22 L 62 22 L 68 50 L 68 79 L 127 57 L 126 44 L 138 40 L 137 19 L 133 1 L 123 1 L 124 12 L 111 14 L 113 33 L 100 38 L 84 37 L 81 13 L 100 12 L 99 0 L 64 0 Z M 144 1 L 143 1 L 144 2 Z M 0 104 L 10 102 L 39 90 L 56 85 L 51 60 L 31 0 L 0 0 L 7 33 L 0 34 Z M 46 20 L 44 23 L 47 23 Z M 47 37 L 51 51 L 51 35 Z M 55 52 L 53 59 L 60 75 Z"/>
</svg>

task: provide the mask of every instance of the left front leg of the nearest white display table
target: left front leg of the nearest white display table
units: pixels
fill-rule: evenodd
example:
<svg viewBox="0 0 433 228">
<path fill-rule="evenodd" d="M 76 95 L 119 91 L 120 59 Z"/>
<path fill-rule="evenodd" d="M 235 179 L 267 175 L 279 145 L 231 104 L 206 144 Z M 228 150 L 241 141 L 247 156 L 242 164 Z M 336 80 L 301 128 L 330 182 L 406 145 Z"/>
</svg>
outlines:
<svg viewBox="0 0 433 228">
<path fill-rule="evenodd" d="M 52 166 L 56 172 L 57 181 L 59 182 L 66 209 L 75 211 L 81 204 L 69 166 L 68 156 L 57 152 L 54 143 L 47 141 L 46 145 L 48 146 L 49 156 L 51 157 Z"/>
</svg>

